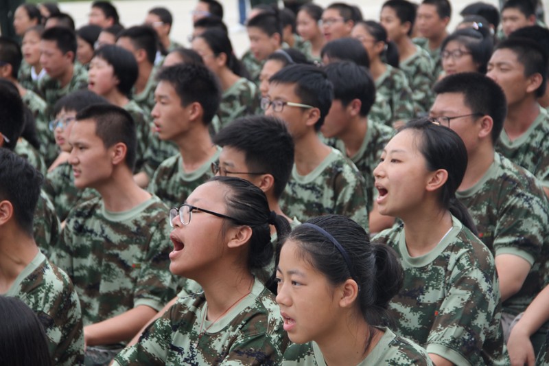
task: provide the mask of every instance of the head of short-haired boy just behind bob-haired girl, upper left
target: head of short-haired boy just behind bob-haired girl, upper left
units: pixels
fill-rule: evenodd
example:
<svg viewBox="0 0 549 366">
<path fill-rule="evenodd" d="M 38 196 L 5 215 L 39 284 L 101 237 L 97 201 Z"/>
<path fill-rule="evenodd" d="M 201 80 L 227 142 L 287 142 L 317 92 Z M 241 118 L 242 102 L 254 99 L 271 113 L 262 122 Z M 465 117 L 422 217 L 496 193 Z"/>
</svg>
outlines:
<svg viewBox="0 0 549 366">
<path fill-rule="evenodd" d="M 148 63 L 154 65 L 156 51 L 158 49 L 158 36 L 147 25 L 136 25 L 117 34 L 116 44 L 127 49 L 135 56 L 137 65 Z"/>
</svg>

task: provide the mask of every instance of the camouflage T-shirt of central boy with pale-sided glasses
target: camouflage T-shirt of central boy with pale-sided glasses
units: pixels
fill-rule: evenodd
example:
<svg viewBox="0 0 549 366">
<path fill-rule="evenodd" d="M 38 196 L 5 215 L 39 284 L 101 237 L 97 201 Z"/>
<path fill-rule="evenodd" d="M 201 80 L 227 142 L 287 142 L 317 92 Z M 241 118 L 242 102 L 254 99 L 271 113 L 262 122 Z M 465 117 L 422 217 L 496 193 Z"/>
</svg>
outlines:
<svg viewBox="0 0 549 366">
<path fill-rule="evenodd" d="M 355 165 L 334 148 L 306 176 L 299 175 L 294 165 L 280 207 L 285 214 L 302 222 L 325 214 L 344 215 L 369 231 L 364 178 Z"/>
</svg>

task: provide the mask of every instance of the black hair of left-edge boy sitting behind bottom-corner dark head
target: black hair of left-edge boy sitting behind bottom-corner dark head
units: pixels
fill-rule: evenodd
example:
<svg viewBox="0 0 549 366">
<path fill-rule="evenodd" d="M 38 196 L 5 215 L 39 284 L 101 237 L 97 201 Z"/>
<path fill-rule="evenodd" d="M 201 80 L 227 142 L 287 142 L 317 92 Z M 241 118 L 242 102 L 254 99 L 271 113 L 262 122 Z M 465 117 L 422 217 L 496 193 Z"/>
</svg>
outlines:
<svg viewBox="0 0 549 366">
<path fill-rule="evenodd" d="M 31 238 L 34 210 L 43 179 L 44 176 L 27 159 L 7 148 L 0 148 L 0 201 L 12 203 L 17 226 Z"/>
</svg>

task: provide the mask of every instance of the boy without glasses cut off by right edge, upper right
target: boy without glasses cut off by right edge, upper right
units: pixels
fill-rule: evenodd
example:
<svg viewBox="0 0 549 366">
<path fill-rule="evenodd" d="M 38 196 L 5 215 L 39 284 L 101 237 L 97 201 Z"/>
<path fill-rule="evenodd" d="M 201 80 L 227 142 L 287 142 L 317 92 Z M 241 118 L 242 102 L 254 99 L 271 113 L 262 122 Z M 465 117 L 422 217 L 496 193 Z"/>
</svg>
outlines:
<svg viewBox="0 0 549 366">
<path fill-rule="evenodd" d="M 495 150 L 536 176 L 549 194 L 549 127 L 537 98 L 547 84 L 547 54 L 535 41 L 502 41 L 488 62 L 487 76 L 502 87 L 507 117 Z"/>
</svg>

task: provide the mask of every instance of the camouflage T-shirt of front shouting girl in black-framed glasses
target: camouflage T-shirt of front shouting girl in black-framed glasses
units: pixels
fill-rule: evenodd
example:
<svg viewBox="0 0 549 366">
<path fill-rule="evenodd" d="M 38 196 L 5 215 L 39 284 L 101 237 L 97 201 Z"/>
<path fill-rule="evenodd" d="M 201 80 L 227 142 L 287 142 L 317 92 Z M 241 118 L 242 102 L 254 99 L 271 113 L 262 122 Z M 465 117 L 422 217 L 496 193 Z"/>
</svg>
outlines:
<svg viewBox="0 0 549 366">
<path fill-rule="evenodd" d="M 178 299 L 113 365 L 280 365 L 288 336 L 274 295 L 257 279 L 222 319 L 206 314 L 204 293 Z"/>
</svg>

